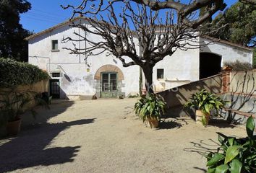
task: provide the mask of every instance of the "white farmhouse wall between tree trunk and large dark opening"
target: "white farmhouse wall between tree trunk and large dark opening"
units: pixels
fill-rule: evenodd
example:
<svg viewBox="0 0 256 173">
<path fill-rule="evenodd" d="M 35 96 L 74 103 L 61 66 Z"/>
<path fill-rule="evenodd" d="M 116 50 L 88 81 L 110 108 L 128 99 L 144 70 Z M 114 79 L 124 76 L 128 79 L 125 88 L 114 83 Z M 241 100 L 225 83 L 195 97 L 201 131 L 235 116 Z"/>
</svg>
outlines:
<svg viewBox="0 0 256 173">
<path fill-rule="evenodd" d="M 199 49 L 176 50 L 153 68 L 155 91 L 174 88 L 199 79 Z M 157 69 L 163 68 L 163 79 L 157 79 Z"/>
</svg>

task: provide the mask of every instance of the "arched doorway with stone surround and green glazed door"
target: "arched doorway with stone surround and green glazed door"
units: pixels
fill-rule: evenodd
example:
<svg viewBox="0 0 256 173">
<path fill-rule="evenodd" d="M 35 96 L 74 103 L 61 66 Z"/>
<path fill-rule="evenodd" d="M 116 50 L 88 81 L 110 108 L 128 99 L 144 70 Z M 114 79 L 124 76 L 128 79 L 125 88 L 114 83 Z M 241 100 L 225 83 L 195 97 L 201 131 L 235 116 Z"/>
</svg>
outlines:
<svg viewBox="0 0 256 173">
<path fill-rule="evenodd" d="M 98 68 L 94 79 L 97 81 L 97 97 L 118 97 L 121 95 L 121 81 L 124 80 L 124 74 L 120 68 L 114 65 L 105 65 Z"/>
</svg>

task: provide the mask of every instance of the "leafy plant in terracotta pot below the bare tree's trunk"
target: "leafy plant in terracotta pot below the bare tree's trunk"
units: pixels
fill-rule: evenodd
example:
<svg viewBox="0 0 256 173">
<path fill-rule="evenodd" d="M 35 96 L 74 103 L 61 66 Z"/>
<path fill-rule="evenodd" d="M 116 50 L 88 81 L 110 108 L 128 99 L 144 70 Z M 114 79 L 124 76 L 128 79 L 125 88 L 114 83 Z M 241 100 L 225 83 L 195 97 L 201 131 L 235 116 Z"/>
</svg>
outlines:
<svg viewBox="0 0 256 173">
<path fill-rule="evenodd" d="M 135 104 L 135 113 L 150 128 L 158 128 L 161 116 L 165 113 L 166 102 L 158 94 L 142 96 Z"/>
</svg>

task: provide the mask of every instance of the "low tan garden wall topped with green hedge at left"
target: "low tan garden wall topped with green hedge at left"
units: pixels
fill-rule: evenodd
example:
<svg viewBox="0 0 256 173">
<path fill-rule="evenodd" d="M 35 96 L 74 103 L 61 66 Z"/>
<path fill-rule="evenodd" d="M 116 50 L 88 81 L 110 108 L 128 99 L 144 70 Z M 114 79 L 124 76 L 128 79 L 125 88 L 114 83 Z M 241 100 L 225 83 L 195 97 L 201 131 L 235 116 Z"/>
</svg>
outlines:
<svg viewBox="0 0 256 173">
<path fill-rule="evenodd" d="M 37 66 L 0 58 L 0 99 L 9 92 L 48 92 L 48 74 Z M 31 102 L 30 106 L 35 106 Z"/>
</svg>

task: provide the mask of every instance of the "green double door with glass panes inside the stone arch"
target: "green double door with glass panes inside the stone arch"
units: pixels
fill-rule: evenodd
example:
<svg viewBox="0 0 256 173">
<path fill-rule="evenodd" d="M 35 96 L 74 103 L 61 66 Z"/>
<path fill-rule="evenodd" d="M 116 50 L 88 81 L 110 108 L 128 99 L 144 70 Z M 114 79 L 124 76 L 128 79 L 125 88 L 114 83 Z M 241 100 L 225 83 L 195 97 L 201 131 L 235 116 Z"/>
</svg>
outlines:
<svg viewBox="0 0 256 173">
<path fill-rule="evenodd" d="M 101 97 L 117 97 L 117 74 L 106 72 L 101 74 Z"/>
</svg>

